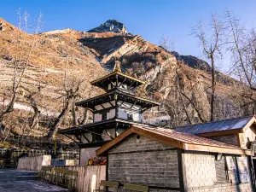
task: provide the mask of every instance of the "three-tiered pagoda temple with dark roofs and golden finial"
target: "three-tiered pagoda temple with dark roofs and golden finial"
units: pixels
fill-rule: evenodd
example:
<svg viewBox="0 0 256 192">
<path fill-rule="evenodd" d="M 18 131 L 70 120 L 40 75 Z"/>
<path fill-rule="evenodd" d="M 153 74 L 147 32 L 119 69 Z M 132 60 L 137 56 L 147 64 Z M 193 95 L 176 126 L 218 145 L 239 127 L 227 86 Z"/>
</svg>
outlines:
<svg viewBox="0 0 256 192">
<path fill-rule="evenodd" d="M 93 113 L 93 123 L 58 131 L 79 140 L 79 164 L 85 164 L 96 155 L 97 148 L 119 136 L 131 125 L 143 124 L 143 112 L 160 105 L 133 94 L 137 86 L 145 83 L 122 73 L 119 62 L 116 62 L 112 73 L 90 84 L 102 88 L 106 93 L 77 102 L 76 106 L 89 109 Z"/>
</svg>

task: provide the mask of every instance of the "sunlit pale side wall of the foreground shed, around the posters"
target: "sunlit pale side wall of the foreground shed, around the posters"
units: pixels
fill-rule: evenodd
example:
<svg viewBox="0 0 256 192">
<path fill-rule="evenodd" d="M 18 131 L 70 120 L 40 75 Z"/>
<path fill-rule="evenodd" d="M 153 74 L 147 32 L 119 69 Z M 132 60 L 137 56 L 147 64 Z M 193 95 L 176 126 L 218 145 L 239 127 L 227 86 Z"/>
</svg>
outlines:
<svg viewBox="0 0 256 192">
<path fill-rule="evenodd" d="M 229 179 L 218 181 L 214 154 L 207 152 L 184 152 L 182 157 L 185 191 L 253 191 L 250 183 L 239 183 L 237 170 L 227 172 Z"/>
</svg>

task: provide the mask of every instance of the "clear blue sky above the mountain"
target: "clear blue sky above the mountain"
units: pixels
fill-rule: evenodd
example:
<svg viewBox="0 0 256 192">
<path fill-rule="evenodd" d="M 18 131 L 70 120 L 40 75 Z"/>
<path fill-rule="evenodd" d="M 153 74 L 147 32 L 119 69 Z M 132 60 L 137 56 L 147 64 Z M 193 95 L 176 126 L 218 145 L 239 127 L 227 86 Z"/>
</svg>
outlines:
<svg viewBox="0 0 256 192">
<path fill-rule="evenodd" d="M 159 44 L 163 35 L 174 43 L 182 55 L 203 58 L 197 40 L 191 36 L 191 27 L 200 18 L 208 21 L 211 13 L 221 15 L 229 7 L 244 24 L 256 27 L 254 0 L 9 0 L 0 1 L 0 17 L 17 25 L 15 11 L 26 10 L 32 17 L 41 10 L 44 14 L 43 31 L 72 28 L 88 31 L 108 19 L 123 22 L 129 32 L 140 34 L 153 44 Z M 229 61 L 219 61 L 225 71 Z"/>
</svg>

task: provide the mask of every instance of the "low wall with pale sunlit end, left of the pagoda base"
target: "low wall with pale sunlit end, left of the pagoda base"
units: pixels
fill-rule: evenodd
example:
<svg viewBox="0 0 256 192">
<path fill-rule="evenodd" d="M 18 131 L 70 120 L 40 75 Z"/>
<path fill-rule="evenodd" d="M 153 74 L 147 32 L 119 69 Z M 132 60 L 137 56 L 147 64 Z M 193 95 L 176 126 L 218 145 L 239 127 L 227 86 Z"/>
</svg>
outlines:
<svg viewBox="0 0 256 192">
<path fill-rule="evenodd" d="M 17 169 L 40 172 L 42 166 L 50 166 L 51 156 L 22 157 L 18 161 Z"/>
</svg>

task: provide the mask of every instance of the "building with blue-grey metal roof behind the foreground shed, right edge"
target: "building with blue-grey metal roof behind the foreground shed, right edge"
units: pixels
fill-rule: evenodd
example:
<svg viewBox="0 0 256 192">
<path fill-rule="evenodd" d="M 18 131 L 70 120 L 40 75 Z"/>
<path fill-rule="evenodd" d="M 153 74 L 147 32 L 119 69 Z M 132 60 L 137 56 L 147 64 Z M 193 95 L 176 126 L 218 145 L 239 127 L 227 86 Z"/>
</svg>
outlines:
<svg viewBox="0 0 256 192">
<path fill-rule="evenodd" d="M 224 119 L 206 124 L 177 127 L 175 131 L 211 138 L 241 148 L 251 148 L 256 137 L 254 116 Z"/>
</svg>

